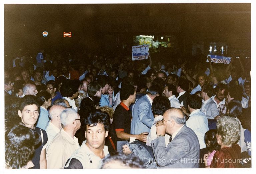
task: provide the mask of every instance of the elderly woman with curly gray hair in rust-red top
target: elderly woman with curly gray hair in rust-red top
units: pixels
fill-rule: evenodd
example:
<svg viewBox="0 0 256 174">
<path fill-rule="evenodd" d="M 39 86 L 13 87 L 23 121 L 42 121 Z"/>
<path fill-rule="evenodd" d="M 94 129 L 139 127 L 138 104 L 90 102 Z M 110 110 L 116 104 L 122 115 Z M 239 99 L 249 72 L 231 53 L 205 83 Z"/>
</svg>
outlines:
<svg viewBox="0 0 256 174">
<path fill-rule="evenodd" d="M 214 154 L 210 168 L 241 167 L 241 148 L 236 144 L 239 137 L 240 123 L 237 118 L 224 116 L 217 120 L 216 138 L 221 149 Z"/>
</svg>

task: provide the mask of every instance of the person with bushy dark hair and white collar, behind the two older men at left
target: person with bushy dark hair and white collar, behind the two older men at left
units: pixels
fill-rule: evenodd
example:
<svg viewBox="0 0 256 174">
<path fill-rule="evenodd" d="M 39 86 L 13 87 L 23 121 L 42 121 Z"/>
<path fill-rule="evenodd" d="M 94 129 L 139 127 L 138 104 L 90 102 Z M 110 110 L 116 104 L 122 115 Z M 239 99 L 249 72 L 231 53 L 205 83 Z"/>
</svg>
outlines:
<svg viewBox="0 0 256 174">
<path fill-rule="evenodd" d="M 67 100 L 69 102 L 69 105 L 72 106 L 73 109 L 77 112 L 77 107 L 75 100 L 78 97 L 79 94 L 79 83 L 77 83 L 75 80 L 67 80 L 64 82 L 60 87 L 61 95 L 63 96 L 63 99 Z"/>
</svg>

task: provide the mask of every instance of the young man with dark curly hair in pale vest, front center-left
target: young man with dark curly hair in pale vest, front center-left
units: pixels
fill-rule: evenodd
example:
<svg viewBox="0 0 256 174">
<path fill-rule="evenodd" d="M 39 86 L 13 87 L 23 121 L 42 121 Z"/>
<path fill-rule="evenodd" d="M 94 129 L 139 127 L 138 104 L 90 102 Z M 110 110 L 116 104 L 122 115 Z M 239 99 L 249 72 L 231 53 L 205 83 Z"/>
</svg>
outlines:
<svg viewBox="0 0 256 174">
<path fill-rule="evenodd" d="M 86 140 L 67 160 L 67 169 L 97 169 L 101 159 L 109 154 L 105 138 L 110 130 L 110 117 L 107 113 L 95 110 L 84 120 Z"/>
</svg>

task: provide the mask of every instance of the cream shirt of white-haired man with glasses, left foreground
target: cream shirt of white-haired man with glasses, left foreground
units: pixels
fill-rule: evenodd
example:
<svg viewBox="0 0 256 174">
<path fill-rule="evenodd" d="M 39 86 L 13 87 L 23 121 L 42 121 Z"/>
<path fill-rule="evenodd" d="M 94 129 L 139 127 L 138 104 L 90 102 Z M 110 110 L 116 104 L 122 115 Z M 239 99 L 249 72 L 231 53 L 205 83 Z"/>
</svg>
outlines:
<svg viewBox="0 0 256 174">
<path fill-rule="evenodd" d="M 72 138 L 64 129 L 61 129 L 46 151 L 47 168 L 62 169 L 79 147 L 78 139 L 75 136 Z"/>
</svg>

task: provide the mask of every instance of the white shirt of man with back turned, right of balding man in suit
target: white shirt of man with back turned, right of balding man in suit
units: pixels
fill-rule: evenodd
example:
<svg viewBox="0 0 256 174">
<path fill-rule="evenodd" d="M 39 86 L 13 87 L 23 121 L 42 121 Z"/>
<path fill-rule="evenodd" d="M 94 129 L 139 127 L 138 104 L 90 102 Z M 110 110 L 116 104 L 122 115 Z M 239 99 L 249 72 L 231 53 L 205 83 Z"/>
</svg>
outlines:
<svg viewBox="0 0 256 174">
<path fill-rule="evenodd" d="M 206 115 L 200 111 L 200 109 L 194 110 L 189 114 L 189 119 L 186 121 L 186 126 L 195 132 L 200 144 L 200 149 L 206 148 L 204 135 L 209 130 Z"/>
</svg>

